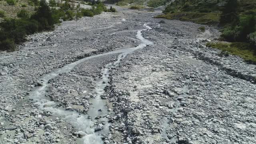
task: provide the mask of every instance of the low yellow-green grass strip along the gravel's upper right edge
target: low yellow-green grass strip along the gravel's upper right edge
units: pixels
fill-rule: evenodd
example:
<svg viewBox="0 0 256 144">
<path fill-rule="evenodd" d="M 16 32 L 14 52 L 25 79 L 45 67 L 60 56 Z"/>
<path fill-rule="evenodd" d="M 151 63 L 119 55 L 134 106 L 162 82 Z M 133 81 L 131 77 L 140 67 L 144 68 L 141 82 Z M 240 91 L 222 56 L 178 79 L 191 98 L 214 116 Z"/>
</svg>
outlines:
<svg viewBox="0 0 256 144">
<path fill-rule="evenodd" d="M 200 12 L 176 12 L 168 13 L 155 18 L 166 18 L 168 20 L 191 21 L 197 24 L 218 24 L 220 19 L 219 13 L 200 13 Z"/>
</svg>

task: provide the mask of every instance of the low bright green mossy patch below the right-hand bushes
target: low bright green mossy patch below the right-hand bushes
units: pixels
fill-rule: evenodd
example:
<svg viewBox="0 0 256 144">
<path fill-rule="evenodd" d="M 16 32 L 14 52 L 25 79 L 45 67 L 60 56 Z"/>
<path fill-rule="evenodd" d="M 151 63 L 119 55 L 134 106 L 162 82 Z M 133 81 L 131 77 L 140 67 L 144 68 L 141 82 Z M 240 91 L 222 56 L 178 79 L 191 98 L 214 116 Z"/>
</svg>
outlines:
<svg viewBox="0 0 256 144">
<path fill-rule="evenodd" d="M 209 42 L 206 44 L 208 47 L 218 48 L 223 52 L 228 52 L 233 55 L 240 56 L 244 58 L 245 61 L 256 64 L 256 56 L 254 55 L 254 50 L 250 48 L 248 43 L 243 42 Z"/>
</svg>

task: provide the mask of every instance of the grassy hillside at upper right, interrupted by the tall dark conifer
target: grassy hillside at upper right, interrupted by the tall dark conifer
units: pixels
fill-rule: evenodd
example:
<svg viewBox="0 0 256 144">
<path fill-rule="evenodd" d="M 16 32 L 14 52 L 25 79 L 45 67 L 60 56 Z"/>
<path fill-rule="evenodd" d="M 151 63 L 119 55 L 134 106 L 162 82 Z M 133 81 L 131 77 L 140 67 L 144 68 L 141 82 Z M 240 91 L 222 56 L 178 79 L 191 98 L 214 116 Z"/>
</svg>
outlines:
<svg viewBox="0 0 256 144">
<path fill-rule="evenodd" d="M 220 10 L 226 0 L 176 0 L 166 6 L 164 14 L 156 18 L 177 19 L 183 21 L 192 21 L 198 24 L 218 24 Z M 248 10 L 256 12 L 256 0 L 240 0 L 240 13 Z"/>
</svg>

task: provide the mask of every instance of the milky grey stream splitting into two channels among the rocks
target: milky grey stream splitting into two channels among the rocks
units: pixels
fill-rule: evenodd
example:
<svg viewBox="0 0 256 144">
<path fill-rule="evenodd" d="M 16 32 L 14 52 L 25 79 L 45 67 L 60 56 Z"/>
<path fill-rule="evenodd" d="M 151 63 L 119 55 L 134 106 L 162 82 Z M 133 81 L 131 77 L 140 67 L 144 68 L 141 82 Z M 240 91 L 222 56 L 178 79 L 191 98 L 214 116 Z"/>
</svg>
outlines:
<svg viewBox="0 0 256 144">
<path fill-rule="evenodd" d="M 143 30 L 150 30 L 149 26 L 147 26 L 148 23 L 145 23 L 143 26 L 146 27 L 146 29 Z M 97 54 L 94 56 L 89 56 L 83 59 L 80 59 L 76 62 L 73 62 L 71 64 L 68 64 L 64 66 L 63 68 L 57 69 L 54 72 L 51 72 L 49 74 L 46 74 L 42 78 L 43 86 L 40 86 L 36 88 L 30 95 L 30 98 L 35 101 L 35 104 L 38 105 L 38 107 L 42 110 L 48 110 L 52 112 L 54 116 L 62 117 L 66 122 L 69 122 L 74 126 L 80 133 L 82 133 L 84 136 L 80 138 L 77 143 L 78 144 L 103 144 L 103 141 L 101 139 L 101 136 L 104 134 L 109 133 L 109 124 L 108 124 L 108 118 L 106 118 L 106 115 L 108 114 L 107 108 L 106 108 L 106 100 L 102 100 L 100 96 L 105 94 L 104 88 L 108 85 L 109 82 L 109 69 L 112 67 L 115 67 L 118 65 L 120 60 L 124 58 L 127 54 L 134 52 L 135 50 L 138 50 L 140 48 L 144 48 L 147 45 L 153 44 L 153 42 L 146 40 L 142 36 L 142 31 L 143 30 L 138 30 L 137 31 L 137 38 L 142 42 L 139 44 L 137 47 L 131 47 L 131 48 L 125 48 L 125 49 L 119 49 L 119 50 L 114 50 L 111 52 L 106 52 L 104 54 Z M 48 86 L 48 81 L 61 73 L 66 73 L 72 70 L 75 66 L 78 64 L 90 60 L 92 58 L 97 58 L 101 56 L 106 56 L 109 54 L 120 54 L 118 56 L 118 59 L 115 62 L 111 62 L 106 65 L 106 68 L 103 69 L 102 73 L 103 76 L 98 82 L 96 83 L 96 88 L 94 92 L 96 93 L 96 98 L 92 99 L 92 104 L 90 105 L 90 108 L 88 110 L 87 114 L 80 114 L 76 111 L 70 111 L 70 110 L 65 110 L 64 108 L 59 108 L 56 107 L 57 103 L 50 101 L 47 99 L 45 96 L 47 86 Z M 104 83 L 103 83 L 104 82 Z M 101 109 L 102 111 L 98 111 Z M 91 118 L 88 118 L 90 116 Z M 94 132 L 94 118 L 96 116 L 101 116 L 100 120 L 105 121 L 106 124 L 104 125 L 103 130 Z"/>
</svg>

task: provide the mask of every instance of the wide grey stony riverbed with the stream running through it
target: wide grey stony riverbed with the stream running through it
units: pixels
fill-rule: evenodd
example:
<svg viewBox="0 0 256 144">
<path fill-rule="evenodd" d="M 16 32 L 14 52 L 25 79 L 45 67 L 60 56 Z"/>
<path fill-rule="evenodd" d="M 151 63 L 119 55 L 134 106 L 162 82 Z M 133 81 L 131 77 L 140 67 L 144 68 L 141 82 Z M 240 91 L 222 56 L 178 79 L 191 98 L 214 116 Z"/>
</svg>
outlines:
<svg viewBox="0 0 256 144">
<path fill-rule="evenodd" d="M 2 52 L 0 143 L 255 144 L 255 66 L 158 14 L 118 8 Z"/>
</svg>

